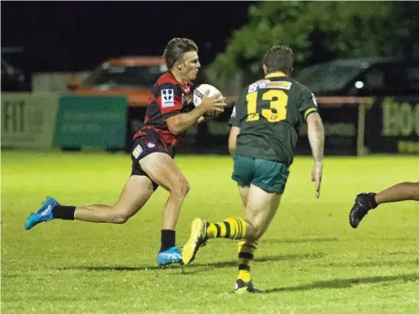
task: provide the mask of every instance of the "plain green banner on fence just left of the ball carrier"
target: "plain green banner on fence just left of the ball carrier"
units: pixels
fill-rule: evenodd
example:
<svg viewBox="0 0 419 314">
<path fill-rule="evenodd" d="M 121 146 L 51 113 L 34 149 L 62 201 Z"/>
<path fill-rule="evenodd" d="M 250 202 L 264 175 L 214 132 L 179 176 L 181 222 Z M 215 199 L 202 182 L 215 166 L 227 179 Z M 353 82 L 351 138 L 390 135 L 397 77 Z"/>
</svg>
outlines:
<svg viewBox="0 0 419 314">
<path fill-rule="evenodd" d="M 124 148 L 126 115 L 126 97 L 62 96 L 53 145 Z"/>
</svg>

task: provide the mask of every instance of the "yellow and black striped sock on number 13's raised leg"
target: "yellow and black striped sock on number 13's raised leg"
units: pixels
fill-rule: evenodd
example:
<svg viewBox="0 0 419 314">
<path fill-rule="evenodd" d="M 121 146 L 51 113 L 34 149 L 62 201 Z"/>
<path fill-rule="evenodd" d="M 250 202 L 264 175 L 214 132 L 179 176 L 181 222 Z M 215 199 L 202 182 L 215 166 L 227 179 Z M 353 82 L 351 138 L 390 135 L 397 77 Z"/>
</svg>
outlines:
<svg viewBox="0 0 419 314">
<path fill-rule="evenodd" d="M 244 239 L 246 222 L 243 218 L 229 217 L 218 223 L 208 223 L 207 238 L 225 237 L 229 239 Z"/>
</svg>

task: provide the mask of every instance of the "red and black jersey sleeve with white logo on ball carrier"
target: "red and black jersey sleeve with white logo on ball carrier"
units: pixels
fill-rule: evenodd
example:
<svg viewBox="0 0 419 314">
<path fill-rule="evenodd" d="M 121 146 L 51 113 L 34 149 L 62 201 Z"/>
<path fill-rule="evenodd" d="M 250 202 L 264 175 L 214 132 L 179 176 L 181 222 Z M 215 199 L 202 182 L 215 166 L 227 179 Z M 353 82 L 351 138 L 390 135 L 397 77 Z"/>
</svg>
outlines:
<svg viewBox="0 0 419 314">
<path fill-rule="evenodd" d="M 155 88 L 154 97 L 163 119 L 182 113 L 182 89 L 179 85 L 163 83 Z"/>
</svg>

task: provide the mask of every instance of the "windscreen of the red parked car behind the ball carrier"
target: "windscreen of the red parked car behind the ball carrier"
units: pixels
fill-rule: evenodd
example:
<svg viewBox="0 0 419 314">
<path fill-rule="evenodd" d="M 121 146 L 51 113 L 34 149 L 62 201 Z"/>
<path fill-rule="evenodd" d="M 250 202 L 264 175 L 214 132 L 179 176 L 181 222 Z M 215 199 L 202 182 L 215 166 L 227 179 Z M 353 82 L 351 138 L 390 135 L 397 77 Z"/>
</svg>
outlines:
<svg viewBox="0 0 419 314">
<path fill-rule="evenodd" d="M 85 81 L 83 88 L 151 88 L 167 70 L 165 65 L 124 66 L 103 64 Z"/>
</svg>

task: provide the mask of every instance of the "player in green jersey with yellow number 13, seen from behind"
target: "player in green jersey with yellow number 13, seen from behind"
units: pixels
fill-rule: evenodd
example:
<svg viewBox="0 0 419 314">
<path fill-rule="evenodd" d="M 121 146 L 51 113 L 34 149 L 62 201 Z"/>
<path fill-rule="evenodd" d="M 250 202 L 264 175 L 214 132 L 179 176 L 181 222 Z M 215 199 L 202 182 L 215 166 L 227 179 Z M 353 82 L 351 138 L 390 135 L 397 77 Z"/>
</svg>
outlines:
<svg viewBox="0 0 419 314">
<path fill-rule="evenodd" d="M 306 122 L 312 148 L 315 197 L 319 198 L 324 131 L 316 98 L 290 75 L 293 51 L 274 46 L 265 53 L 265 78 L 250 84 L 238 98 L 231 115 L 228 148 L 234 158 L 232 179 L 245 208 L 244 217 L 228 217 L 219 223 L 197 218 L 182 248 L 184 264 L 194 260 L 200 245 L 211 238 L 230 238 L 238 243 L 237 292 L 258 292 L 252 284 L 249 263 L 257 241 L 264 235 L 279 207 L 293 163 L 300 126 Z"/>
</svg>

